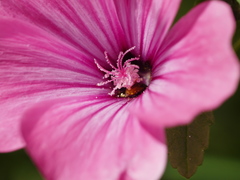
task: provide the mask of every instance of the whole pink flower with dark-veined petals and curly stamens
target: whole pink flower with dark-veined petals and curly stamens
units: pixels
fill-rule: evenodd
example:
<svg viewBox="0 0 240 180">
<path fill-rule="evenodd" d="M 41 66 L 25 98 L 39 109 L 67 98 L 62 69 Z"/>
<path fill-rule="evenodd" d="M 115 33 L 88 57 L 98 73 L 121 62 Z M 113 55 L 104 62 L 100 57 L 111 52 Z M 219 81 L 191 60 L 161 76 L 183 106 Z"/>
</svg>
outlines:
<svg viewBox="0 0 240 180">
<path fill-rule="evenodd" d="M 203 3 L 169 30 L 179 3 L 0 1 L 0 151 L 25 147 L 49 180 L 160 177 L 164 128 L 239 79 L 230 8 Z"/>
</svg>

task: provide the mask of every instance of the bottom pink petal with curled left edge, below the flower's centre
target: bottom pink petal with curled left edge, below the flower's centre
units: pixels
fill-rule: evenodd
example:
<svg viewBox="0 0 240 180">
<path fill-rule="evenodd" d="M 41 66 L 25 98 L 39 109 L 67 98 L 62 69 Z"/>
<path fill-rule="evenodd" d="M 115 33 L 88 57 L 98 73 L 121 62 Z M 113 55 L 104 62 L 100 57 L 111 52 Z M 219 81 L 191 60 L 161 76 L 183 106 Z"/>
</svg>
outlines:
<svg viewBox="0 0 240 180">
<path fill-rule="evenodd" d="M 49 180 L 155 180 L 166 165 L 164 132 L 153 138 L 126 108 L 110 97 L 39 104 L 23 119 L 27 150 Z"/>
</svg>

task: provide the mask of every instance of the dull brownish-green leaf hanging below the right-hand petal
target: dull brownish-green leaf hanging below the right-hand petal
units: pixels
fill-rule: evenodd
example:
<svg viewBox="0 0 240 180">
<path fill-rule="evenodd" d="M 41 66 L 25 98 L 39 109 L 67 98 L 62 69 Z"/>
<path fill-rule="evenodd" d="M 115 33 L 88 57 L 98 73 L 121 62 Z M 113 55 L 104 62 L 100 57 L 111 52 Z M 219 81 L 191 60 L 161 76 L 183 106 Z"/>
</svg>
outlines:
<svg viewBox="0 0 240 180">
<path fill-rule="evenodd" d="M 202 164 L 213 120 L 212 112 L 206 112 L 187 126 L 166 130 L 170 164 L 182 176 L 190 178 Z"/>
</svg>

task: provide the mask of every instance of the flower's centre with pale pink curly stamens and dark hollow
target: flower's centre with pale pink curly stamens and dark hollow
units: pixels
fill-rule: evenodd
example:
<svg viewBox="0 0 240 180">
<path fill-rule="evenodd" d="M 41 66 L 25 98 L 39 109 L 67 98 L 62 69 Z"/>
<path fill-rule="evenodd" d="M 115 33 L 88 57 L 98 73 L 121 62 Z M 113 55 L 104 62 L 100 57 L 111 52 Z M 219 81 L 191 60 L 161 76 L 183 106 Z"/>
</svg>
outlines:
<svg viewBox="0 0 240 180">
<path fill-rule="evenodd" d="M 132 47 L 125 52 L 120 52 L 116 66 L 110 62 L 107 52 L 104 52 L 106 62 L 112 68 L 111 71 L 103 68 L 97 60 L 94 59 L 98 69 L 105 73 L 103 78 L 108 79 L 104 82 L 98 83 L 97 85 L 103 86 L 111 82 L 114 85 L 113 90 L 109 93 L 110 96 L 136 97 L 146 89 L 148 84 L 145 81 L 146 79 L 141 76 L 141 63 L 139 63 L 140 57 L 126 58 L 126 55 L 134 48 L 135 47 Z"/>
</svg>

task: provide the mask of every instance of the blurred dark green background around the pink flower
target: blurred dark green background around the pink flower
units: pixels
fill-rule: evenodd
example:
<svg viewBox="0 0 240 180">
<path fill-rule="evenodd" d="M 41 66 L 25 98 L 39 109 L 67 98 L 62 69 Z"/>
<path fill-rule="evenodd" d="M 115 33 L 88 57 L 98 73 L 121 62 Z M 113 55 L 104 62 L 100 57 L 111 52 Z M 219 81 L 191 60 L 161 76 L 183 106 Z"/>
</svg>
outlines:
<svg viewBox="0 0 240 180">
<path fill-rule="evenodd" d="M 177 19 L 187 13 L 195 1 L 183 0 Z M 238 43 L 237 43 L 238 41 Z M 240 46 L 240 21 L 233 38 Z M 237 55 L 240 57 L 240 47 Z M 235 95 L 214 111 L 210 145 L 202 166 L 191 180 L 240 180 L 240 87 Z M 0 180 L 42 180 L 24 150 L 0 154 Z M 162 180 L 184 180 L 176 169 L 167 166 Z"/>
</svg>

